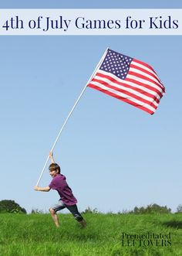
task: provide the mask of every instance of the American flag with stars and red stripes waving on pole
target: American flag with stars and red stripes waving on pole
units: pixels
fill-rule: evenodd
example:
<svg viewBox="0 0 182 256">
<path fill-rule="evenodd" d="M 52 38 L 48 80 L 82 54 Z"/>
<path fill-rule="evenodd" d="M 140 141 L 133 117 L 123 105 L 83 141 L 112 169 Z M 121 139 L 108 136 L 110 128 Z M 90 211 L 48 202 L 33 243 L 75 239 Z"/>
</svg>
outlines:
<svg viewBox="0 0 182 256">
<path fill-rule="evenodd" d="M 147 63 L 108 49 L 87 85 L 153 114 L 165 87 Z"/>
</svg>

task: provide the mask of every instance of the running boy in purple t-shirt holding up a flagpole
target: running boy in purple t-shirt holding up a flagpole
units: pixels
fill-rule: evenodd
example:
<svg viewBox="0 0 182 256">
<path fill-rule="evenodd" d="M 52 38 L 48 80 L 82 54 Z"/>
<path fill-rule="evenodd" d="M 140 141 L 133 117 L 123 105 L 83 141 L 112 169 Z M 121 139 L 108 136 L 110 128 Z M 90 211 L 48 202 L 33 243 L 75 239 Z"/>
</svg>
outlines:
<svg viewBox="0 0 182 256">
<path fill-rule="evenodd" d="M 66 183 L 66 177 L 60 173 L 60 167 L 54 161 L 52 152 L 49 153 L 49 157 L 52 162 L 52 164 L 49 166 L 49 173 L 52 176 L 52 182 L 49 184 L 49 186 L 35 186 L 34 189 L 36 191 L 44 192 L 48 192 L 50 189 L 56 189 L 59 193 L 59 202 L 49 209 L 56 227 L 59 227 L 59 220 L 56 212 L 64 208 L 67 208 L 72 213 L 79 224 L 81 224 L 83 227 L 86 227 L 86 221 L 83 219 L 76 206 L 77 200 L 72 194 L 72 189 L 70 189 Z"/>
</svg>

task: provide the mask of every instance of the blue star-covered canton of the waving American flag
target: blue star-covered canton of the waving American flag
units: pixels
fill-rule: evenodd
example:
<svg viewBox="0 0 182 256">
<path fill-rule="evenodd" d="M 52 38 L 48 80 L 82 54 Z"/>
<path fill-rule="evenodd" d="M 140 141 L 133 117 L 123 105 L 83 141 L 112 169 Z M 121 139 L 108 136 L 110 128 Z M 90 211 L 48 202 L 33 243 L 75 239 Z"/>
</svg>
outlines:
<svg viewBox="0 0 182 256">
<path fill-rule="evenodd" d="M 116 77 L 120 79 L 125 79 L 127 73 L 130 69 L 130 63 L 133 58 L 123 55 L 121 53 L 116 53 L 112 49 L 108 50 L 103 63 L 99 67 L 100 70 L 113 73 Z"/>
</svg>

